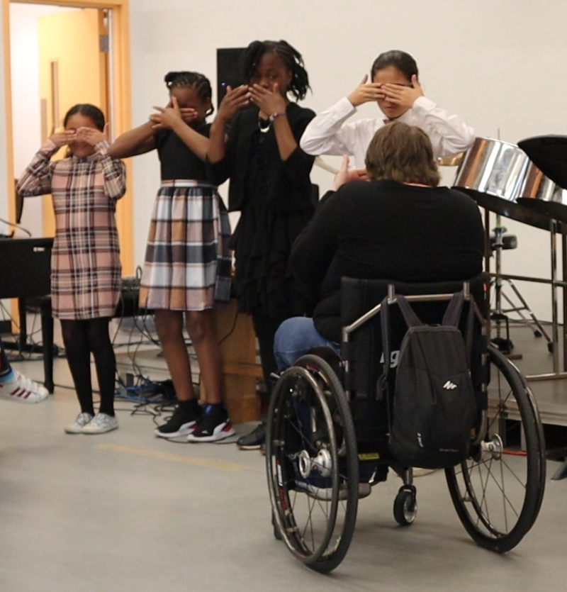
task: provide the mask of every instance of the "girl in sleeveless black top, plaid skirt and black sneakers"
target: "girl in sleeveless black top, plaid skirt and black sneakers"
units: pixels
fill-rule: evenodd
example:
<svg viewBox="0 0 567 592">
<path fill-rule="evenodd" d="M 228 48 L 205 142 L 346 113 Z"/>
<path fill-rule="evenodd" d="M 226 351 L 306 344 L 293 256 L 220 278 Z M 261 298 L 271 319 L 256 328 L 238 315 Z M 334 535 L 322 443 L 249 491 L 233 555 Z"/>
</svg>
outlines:
<svg viewBox="0 0 567 592">
<path fill-rule="evenodd" d="M 213 307 L 230 296 L 230 226 L 203 162 L 213 112 L 210 82 L 198 72 L 169 72 L 169 104 L 125 133 L 111 154 L 125 158 L 157 150 L 162 186 L 155 201 L 140 281 L 140 306 L 155 324 L 179 400 L 156 435 L 213 442 L 234 433 L 222 403 L 220 350 Z M 191 381 L 185 324 L 206 389 L 204 411 Z"/>
</svg>

